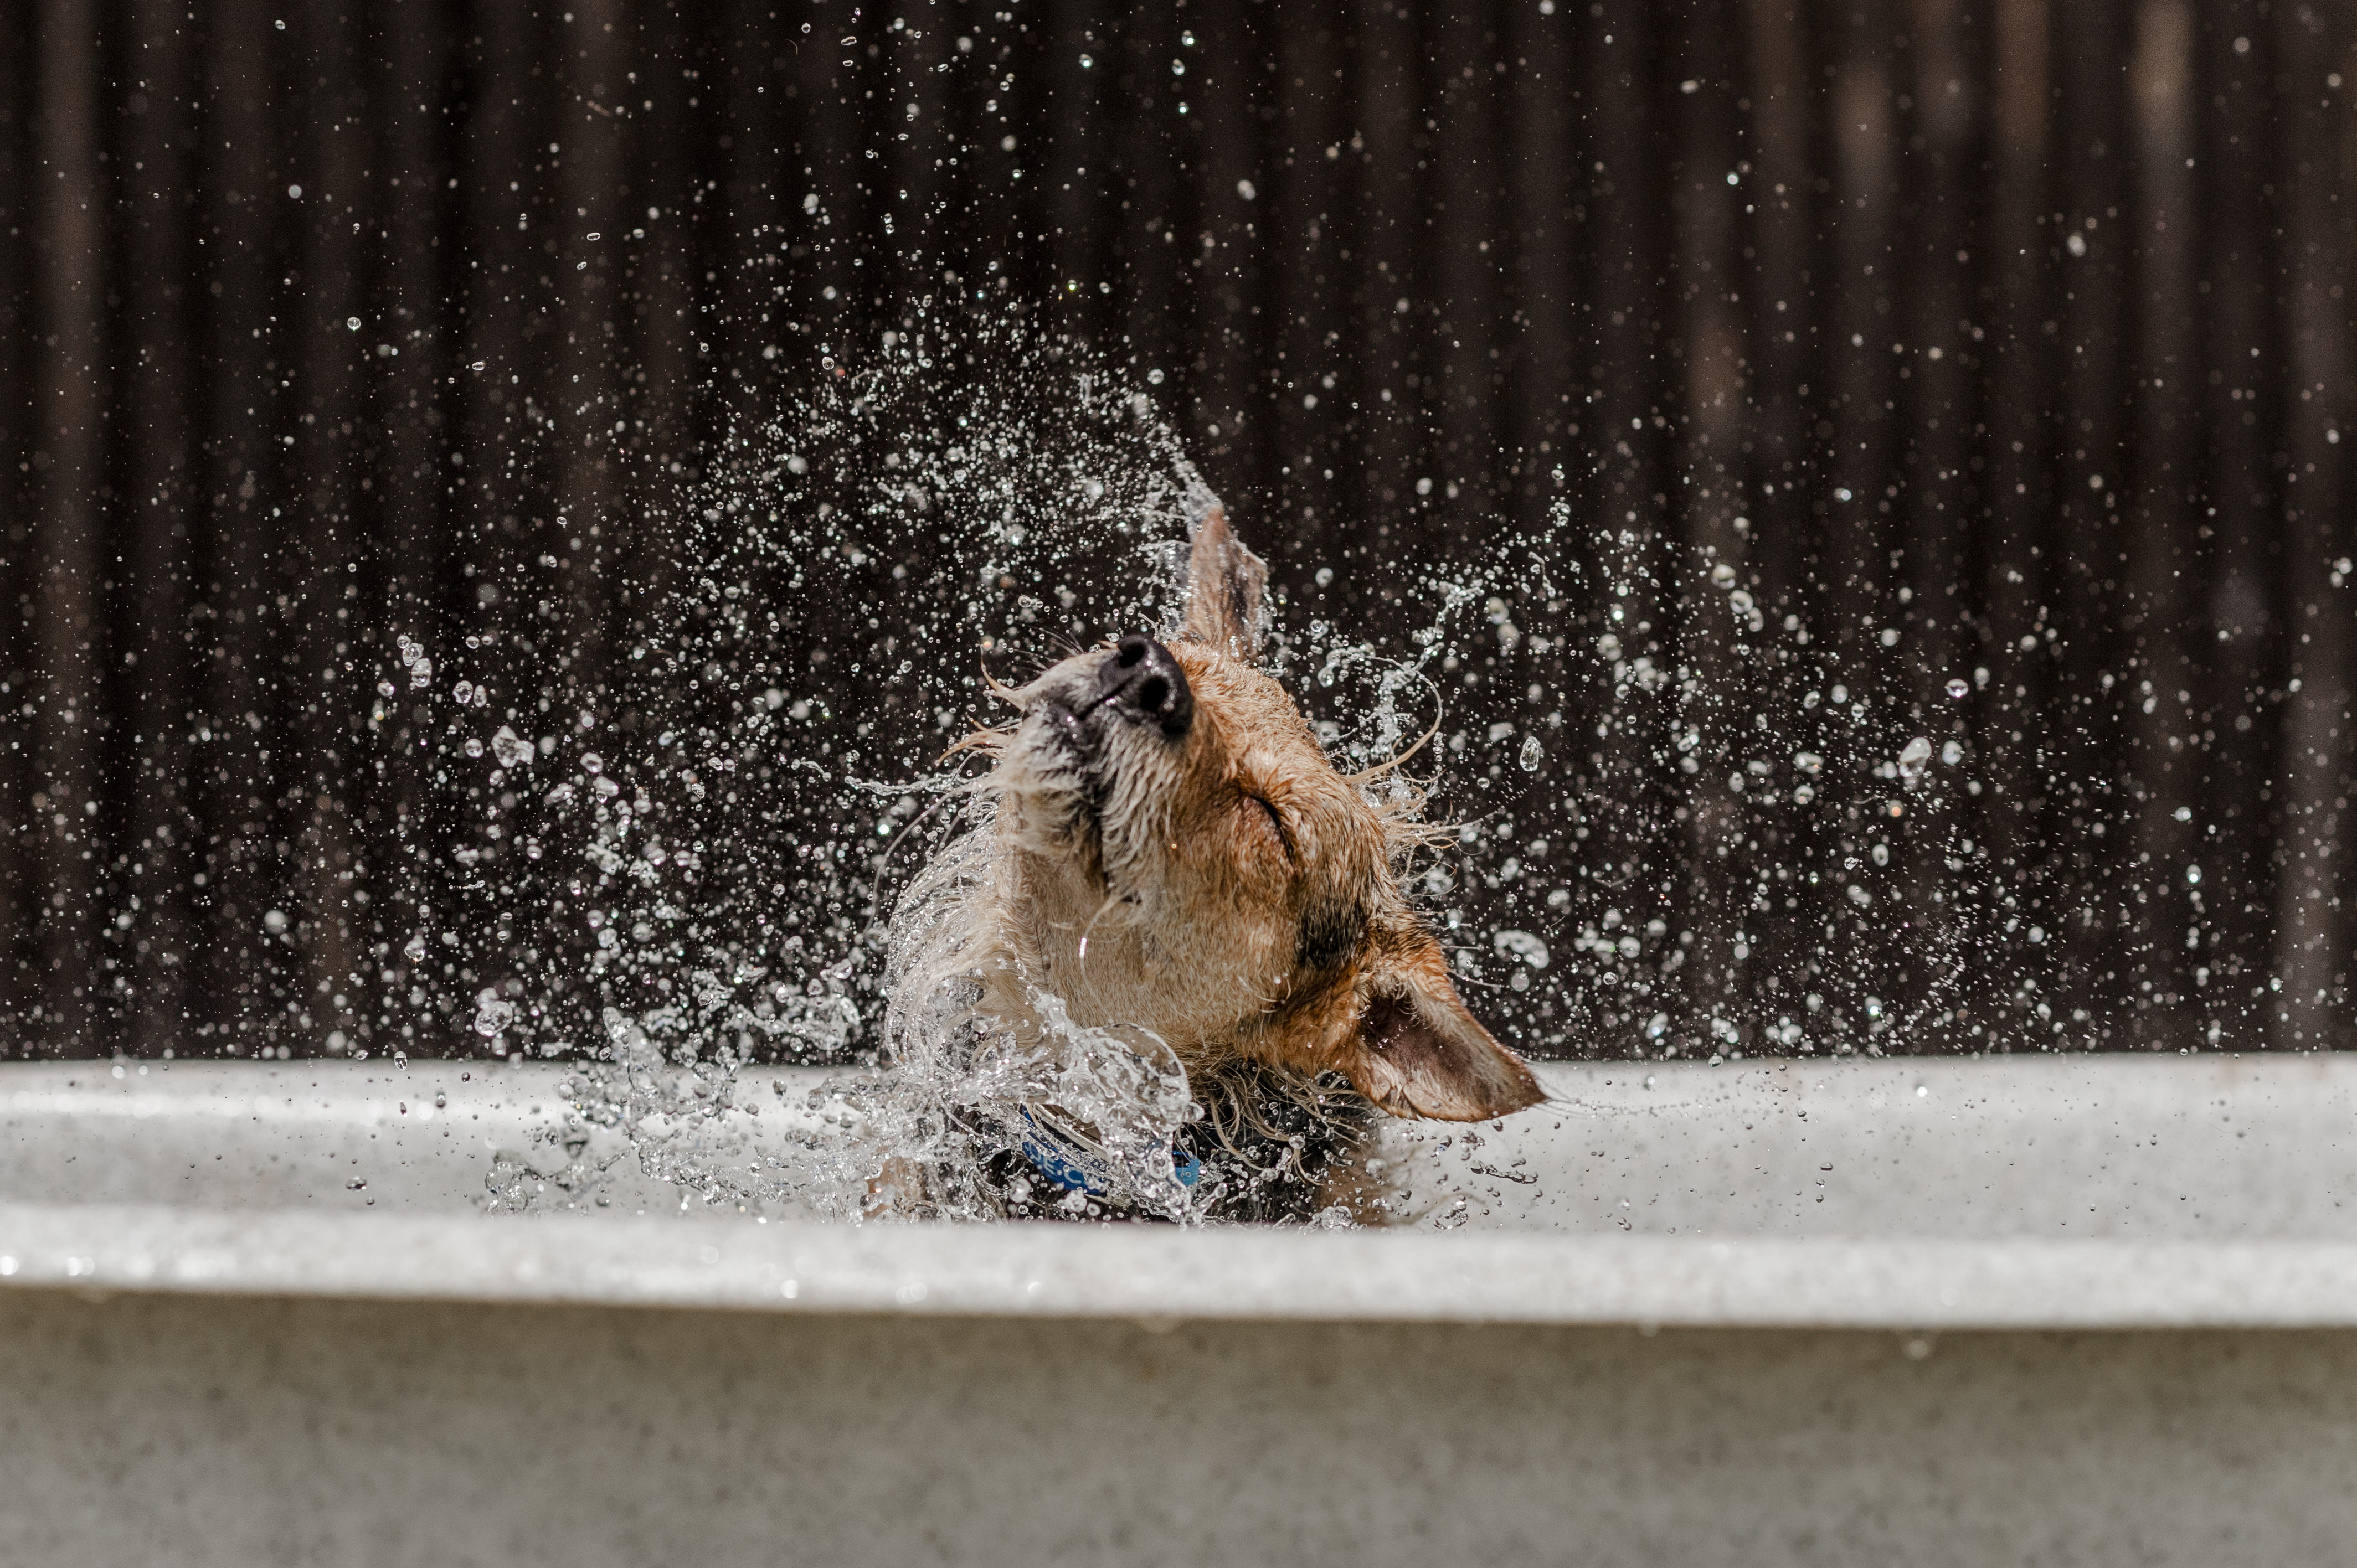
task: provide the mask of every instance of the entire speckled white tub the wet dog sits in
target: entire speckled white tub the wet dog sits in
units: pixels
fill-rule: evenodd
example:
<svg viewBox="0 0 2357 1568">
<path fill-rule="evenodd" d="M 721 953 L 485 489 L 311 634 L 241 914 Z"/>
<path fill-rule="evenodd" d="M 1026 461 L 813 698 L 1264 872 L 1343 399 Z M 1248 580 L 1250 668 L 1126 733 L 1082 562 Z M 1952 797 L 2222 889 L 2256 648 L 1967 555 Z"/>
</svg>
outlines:
<svg viewBox="0 0 2357 1568">
<path fill-rule="evenodd" d="M 549 1070 L 148 1068 L 0 1070 L 0 1561 L 2357 1540 L 2357 1061 L 1556 1066 L 1355 1233 L 483 1214 Z"/>
</svg>

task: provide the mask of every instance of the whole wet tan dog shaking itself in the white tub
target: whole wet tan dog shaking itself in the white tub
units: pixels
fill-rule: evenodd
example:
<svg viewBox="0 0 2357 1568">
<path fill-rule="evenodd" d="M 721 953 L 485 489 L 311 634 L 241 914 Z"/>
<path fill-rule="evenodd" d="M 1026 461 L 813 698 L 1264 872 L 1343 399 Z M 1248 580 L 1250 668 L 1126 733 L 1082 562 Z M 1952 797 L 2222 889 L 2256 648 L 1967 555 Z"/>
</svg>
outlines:
<svg viewBox="0 0 2357 1568">
<path fill-rule="evenodd" d="M 879 1205 L 1303 1217 L 1379 1115 L 1541 1099 L 1409 908 L 1398 759 L 1341 776 L 1259 665 L 1263 585 L 1202 495 L 1174 634 L 999 686 L 988 821 L 893 917 L 896 1066 L 955 1068 L 971 1160 L 896 1158 Z"/>
</svg>

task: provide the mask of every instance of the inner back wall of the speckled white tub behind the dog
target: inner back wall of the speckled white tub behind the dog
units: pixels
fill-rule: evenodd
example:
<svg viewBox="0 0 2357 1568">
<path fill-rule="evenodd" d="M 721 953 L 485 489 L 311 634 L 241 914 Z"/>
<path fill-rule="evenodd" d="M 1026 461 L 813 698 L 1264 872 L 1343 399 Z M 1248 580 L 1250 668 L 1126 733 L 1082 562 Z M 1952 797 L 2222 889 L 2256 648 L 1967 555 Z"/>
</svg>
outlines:
<svg viewBox="0 0 2357 1568">
<path fill-rule="evenodd" d="M 563 1078 L 0 1063 L 0 1203 L 467 1212 L 495 1158 L 570 1160 L 549 1137 Z M 750 1078 L 768 1113 L 728 1127 L 759 1148 L 820 1075 Z M 1553 1103 L 1504 1127 L 1386 1127 L 1414 1207 L 1464 1198 L 1473 1231 L 1589 1236 L 2357 1243 L 2357 1056 L 1546 1063 L 1541 1080 Z M 679 1212 L 618 1134 L 573 1134 L 610 1172 L 608 1212 Z"/>
</svg>

